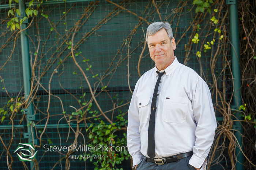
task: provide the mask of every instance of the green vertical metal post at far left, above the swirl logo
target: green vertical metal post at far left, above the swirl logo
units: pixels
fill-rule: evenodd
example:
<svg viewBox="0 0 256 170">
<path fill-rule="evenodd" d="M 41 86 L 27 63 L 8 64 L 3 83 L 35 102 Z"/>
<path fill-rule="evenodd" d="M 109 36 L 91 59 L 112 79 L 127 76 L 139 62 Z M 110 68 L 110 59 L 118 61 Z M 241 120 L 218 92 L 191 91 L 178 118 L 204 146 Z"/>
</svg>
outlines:
<svg viewBox="0 0 256 170">
<path fill-rule="evenodd" d="M 26 16 L 26 1 L 25 0 L 19 0 L 19 10 L 20 10 L 20 18 L 23 18 Z M 27 27 L 27 21 L 24 21 L 20 25 L 20 29 L 25 29 Z M 24 91 L 25 91 L 25 99 L 29 97 L 30 89 L 31 89 L 31 70 L 30 70 L 30 57 L 29 57 L 29 37 L 27 36 L 27 30 L 22 31 L 20 33 L 20 41 L 21 41 L 21 52 L 22 52 L 22 67 L 23 67 L 23 81 L 24 81 Z M 30 122 L 31 120 L 34 120 L 34 107 L 33 104 L 30 104 L 27 109 L 25 110 L 26 118 Z M 28 122 L 28 123 L 29 123 Z M 29 143 L 33 143 L 32 133 L 35 137 L 35 131 L 34 129 L 31 131 L 32 124 L 27 127 L 27 133 L 24 133 L 24 138 L 29 139 Z M 35 140 L 36 141 L 36 140 Z M 37 144 L 37 143 L 35 143 Z M 34 166 L 34 162 L 30 162 L 30 169 L 32 170 Z"/>
</svg>

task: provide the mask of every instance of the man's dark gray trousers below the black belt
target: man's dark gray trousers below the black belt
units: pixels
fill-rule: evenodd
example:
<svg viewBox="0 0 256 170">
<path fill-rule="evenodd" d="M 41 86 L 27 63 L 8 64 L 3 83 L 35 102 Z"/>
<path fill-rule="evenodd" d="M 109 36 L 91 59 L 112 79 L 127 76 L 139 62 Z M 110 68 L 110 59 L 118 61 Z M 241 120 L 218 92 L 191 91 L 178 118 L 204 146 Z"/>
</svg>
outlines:
<svg viewBox="0 0 256 170">
<path fill-rule="evenodd" d="M 163 165 L 157 165 L 142 159 L 136 170 L 196 170 L 195 167 L 188 164 L 191 157 L 192 156 L 180 159 L 178 162 L 171 162 Z"/>
</svg>

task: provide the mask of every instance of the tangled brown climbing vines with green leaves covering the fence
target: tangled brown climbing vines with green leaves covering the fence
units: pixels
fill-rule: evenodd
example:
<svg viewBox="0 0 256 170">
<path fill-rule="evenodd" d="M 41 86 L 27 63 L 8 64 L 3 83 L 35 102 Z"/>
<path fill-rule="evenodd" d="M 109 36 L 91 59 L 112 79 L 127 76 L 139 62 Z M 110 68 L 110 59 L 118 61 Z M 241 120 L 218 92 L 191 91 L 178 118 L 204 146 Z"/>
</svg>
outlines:
<svg viewBox="0 0 256 170">
<path fill-rule="evenodd" d="M 131 159 L 127 150 L 114 150 L 114 148 L 117 147 L 125 148 L 127 146 L 127 108 L 130 100 L 122 99 L 120 94 L 118 95 L 118 92 L 110 92 L 110 83 L 113 76 L 117 75 L 118 69 L 121 66 L 127 67 L 127 80 L 125 81 L 127 81 L 129 92 L 132 94 L 132 88 L 130 86 L 131 73 L 129 72 L 129 67 L 132 67 L 132 61 L 129 59 L 131 55 L 135 54 L 135 52 L 140 51 L 138 58 L 136 58 L 136 61 L 138 60 L 138 64 L 136 64 L 138 75 L 136 76 L 141 76 L 140 65 L 148 55 L 146 54 L 147 47 L 146 40 L 144 38 L 144 30 L 146 30 L 145 27 L 154 21 L 169 21 L 170 24 L 172 24 L 172 27 L 174 26 L 173 28 L 175 28 L 174 37 L 178 37 L 177 29 L 180 25 L 180 14 L 188 13 L 193 17 L 189 25 L 185 27 L 180 37 L 176 38 L 176 45 L 178 48 L 185 49 L 183 64 L 189 65 L 189 60 L 195 56 L 195 60 L 197 60 L 200 68 L 199 75 L 210 87 L 212 98 L 214 99 L 215 111 L 223 117 L 223 120 L 218 124 L 219 126 L 215 134 L 214 145 L 210 151 L 208 169 L 216 165 L 221 165 L 220 162 L 223 159 L 227 159 L 225 157 L 225 152 L 228 153 L 228 159 L 230 160 L 226 163 L 226 167 L 234 168 L 236 165 L 235 148 L 240 146 L 236 145 L 236 138 L 233 135 L 233 124 L 234 121 L 237 120 L 234 119 L 234 110 L 231 108 L 233 92 L 230 89 L 233 84 L 233 77 L 230 66 L 231 59 L 227 51 L 227 49 L 230 48 L 230 43 L 229 32 L 226 31 L 229 28 L 226 25 L 228 22 L 228 10 L 225 5 L 225 0 L 193 0 L 191 2 L 179 1 L 178 5 L 174 7 L 170 13 L 163 12 L 165 11 L 163 9 L 168 8 L 168 5 L 170 5 L 170 2 L 168 1 L 150 0 L 149 3 L 143 7 L 143 10 L 140 12 L 136 11 L 136 13 L 131 11 L 129 7 L 129 5 L 135 4 L 135 1 L 124 0 L 118 4 L 110 0 L 105 1 L 108 4 L 113 5 L 113 8 L 111 8 L 110 11 L 105 11 L 104 17 L 98 20 L 97 23 L 86 32 L 83 32 L 83 29 L 81 28 L 85 27 L 89 20 L 92 19 L 92 15 L 96 13 L 95 10 L 100 6 L 99 1 L 89 2 L 76 22 L 68 21 L 67 15 L 77 4 L 71 3 L 70 7 L 66 8 L 67 2 L 65 0 L 65 10 L 60 13 L 60 21 L 54 21 L 54 14 L 52 13 L 53 9 L 48 11 L 46 10 L 45 7 L 47 5 L 44 4 L 46 0 L 27 0 L 24 16 L 18 8 L 18 0 L 1 2 L 9 4 L 10 7 L 10 9 L 8 9 L 7 18 L 5 20 L 0 20 L 0 22 L 2 25 L 5 25 L 5 28 L 1 28 L 2 30 L 8 28 L 5 30 L 6 34 L 10 34 L 11 32 L 11 38 L 3 43 L 1 42 L 0 54 L 11 42 L 14 42 L 14 47 L 11 55 L 8 56 L 3 66 L 0 66 L 0 71 L 3 71 L 5 67 L 7 67 L 6 64 L 11 62 L 11 58 L 14 57 L 13 52 L 15 49 L 15 42 L 17 37 L 20 35 L 20 32 L 24 31 L 21 30 L 21 25 L 24 24 L 25 21 L 27 23 L 27 31 L 32 27 L 36 28 L 34 30 L 38 32 L 38 35 L 38 22 L 44 20 L 50 26 L 48 32 L 46 31 L 48 35 L 46 34 L 46 39 L 44 39 L 43 42 L 40 36 L 37 37 L 37 41 L 35 42 L 35 39 L 31 37 L 31 34 L 27 34 L 31 44 L 33 44 L 33 46 L 30 47 L 32 86 L 29 97 L 25 98 L 21 93 L 22 89 L 15 97 L 9 95 L 8 90 L 10 89 L 5 86 L 5 82 L 7 80 L 5 77 L 0 76 L 2 90 L 8 97 L 7 103 L 3 104 L 0 108 L 0 121 L 2 124 L 5 123 L 12 125 L 11 137 L 8 139 L 3 140 L 5 137 L 4 133 L 7 133 L 7 130 L 0 130 L 0 140 L 4 147 L 1 155 L 3 153 L 7 155 L 8 158 L 5 161 L 7 162 L 8 167 L 12 169 L 12 164 L 14 162 L 12 154 L 10 153 L 10 147 L 14 143 L 13 136 L 15 131 L 17 131 L 14 128 L 14 120 L 17 119 L 18 114 L 22 114 L 22 118 L 19 117 L 18 120 L 19 124 L 22 124 L 24 121 L 31 131 L 35 131 L 36 137 L 34 137 L 34 139 L 38 139 L 38 142 L 36 143 L 33 141 L 34 147 L 41 149 L 44 144 L 48 144 L 53 148 L 56 147 L 57 143 L 61 143 L 61 138 L 64 137 L 59 133 L 59 127 L 57 127 L 58 138 L 60 138 L 59 141 L 52 139 L 48 135 L 49 132 L 46 130 L 51 119 L 53 117 L 57 117 L 59 119 L 58 126 L 60 122 L 63 124 L 65 123 L 68 126 L 67 141 L 70 138 L 69 135 L 74 134 L 75 136 L 72 138 L 72 142 L 69 142 L 69 144 L 71 143 L 71 147 L 78 146 L 81 143 L 79 138 L 82 138 L 84 139 L 84 141 L 82 140 L 83 146 L 87 145 L 88 147 L 97 147 L 97 145 L 99 145 L 101 148 L 110 149 L 92 151 L 90 153 L 91 155 L 99 155 L 101 158 L 104 158 L 98 160 L 85 159 L 84 155 L 87 154 L 86 152 L 79 154 L 80 162 L 92 162 L 95 170 L 118 170 L 118 167 L 120 167 L 122 162 Z M 57 6 L 57 4 L 55 5 Z M 185 11 L 185 9 L 187 9 L 187 11 Z M 108 63 L 109 66 L 105 68 L 104 72 L 97 71 L 97 69 L 95 69 L 97 66 L 95 66 L 94 63 L 96 60 L 89 59 L 86 52 L 80 50 L 81 44 L 85 44 L 90 37 L 97 35 L 97 30 L 100 30 L 104 24 L 112 21 L 115 17 L 120 15 L 120 13 L 128 13 L 129 15 L 136 17 L 137 23 L 132 26 L 129 33 L 124 35 L 120 46 L 115 49 L 115 54 L 112 56 Z M 244 23 L 245 13 L 241 13 L 241 22 Z M 59 31 L 59 27 L 63 27 L 63 25 L 60 24 L 64 25 L 65 31 Z M 255 30 L 255 26 L 253 26 L 253 24 L 252 28 Z M 249 32 L 246 32 L 246 29 L 244 30 L 246 34 L 245 40 L 248 40 Z M 141 32 L 143 36 L 139 39 L 138 44 L 134 46 L 134 44 L 132 44 L 132 40 L 135 37 L 134 35 L 140 31 L 143 31 Z M 79 34 L 81 32 L 82 34 Z M 4 36 L 5 33 L 0 35 L 0 37 Z M 188 42 L 182 44 L 181 39 L 184 38 L 184 36 L 188 37 Z M 57 47 L 55 50 L 53 50 L 53 46 L 47 46 L 49 41 L 54 41 L 54 46 Z M 248 40 L 246 49 L 250 46 L 250 49 L 253 50 L 253 46 L 251 46 L 250 43 L 251 42 Z M 243 54 L 248 53 L 248 51 L 245 51 Z M 254 62 L 256 59 L 254 51 L 253 54 L 250 55 L 251 58 L 249 60 Z M 44 64 L 42 64 L 43 58 L 47 58 L 46 63 Z M 81 91 L 79 96 L 74 95 L 74 93 L 71 93 L 69 89 L 61 84 L 61 79 L 64 78 L 65 73 L 70 72 L 67 67 L 71 62 L 75 67 L 75 69 L 71 71 L 72 76 L 74 76 L 74 78 L 79 78 L 82 81 L 82 83 L 79 83 L 79 90 Z M 220 62 L 222 63 L 221 69 L 218 69 L 220 67 L 218 63 Z M 252 63 L 248 63 L 248 65 L 250 64 Z M 246 70 L 246 68 L 244 70 Z M 246 74 L 246 71 L 244 72 L 245 73 L 243 74 Z M 247 72 L 247 74 L 249 74 L 249 72 Z M 45 79 L 45 77 L 47 77 L 48 81 L 46 85 L 43 83 L 43 79 Z M 65 92 L 65 94 L 70 95 L 72 100 L 76 102 L 76 105 L 70 105 L 69 103 L 65 104 L 60 95 L 53 94 L 53 90 L 51 89 L 53 88 L 52 81 L 54 80 L 59 83 L 60 88 Z M 255 81 L 245 83 L 246 81 L 246 78 L 243 77 L 243 85 L 248 85 L 248 88 L 251 90 L 248 93 L 252 94 L 253 89 L 255 89 L 253 86 Z M 74 84 L 74 86 L 76 86 L 76 84 Z M 46 102 L 47 108 L 45 110 L 42 110 L 38 106 L 38 103 L 41 100 L 41 96 L 37 95 L 39 88 L 43 89 L 44 93 L 48 96 Z M 230 93 L 227 94 L 227 91 Z M 106 94 L 106 96 L 108 96 L 108 99 L 111 101 L 110 109 L 106 109 L 103 104 L 99 102 L 99 96 L 101 94 Z M 252 98 L 255 97 L 255 95 L 251 96 Z M 52 114 L 51 107 L 53 106 L 51 105 L 51 101 L 56 99 L 60 103 L 61 111 L 59 111 L 58 114 Z M 254 99 L 252 101 L 246 100 L 246 102 L 244 101 L 243 105 L 240 106 L 239 110 L 236 110 L 241 112 L 241 116 L 244 118 L 241 122 L 248 123 L 249 125 L 246 125 L 245 127 L 251 131 L 256 127 L 253 102 L 255 103 Z M 27 120 L 25 113 L 29 104 L 33 104 L 35 115 L 43 115 L 44 118 L 33 121 Z M 67 108 L 72 108 L 72 111 L 67 110 Z M 58 116 L 60 116 L 60 118 Z M 44 127 L 38 129 L 37 126 L 42 122 L 44 122 Z M 76 124 L 76 128 L 72 125 L 74 123 Z M 81 124 L 84 124 L 84 126 Z M 246 140 L 250 141 L 249 135 L 246 137 L 248 137 Z M 253 140 L 255 140 L 255 138 L 253 138 Z M 253 142 L 251 142 L 251 145 L 252 144 Z M 248 155 L 250 151 L 247 147 L 245 148 L 247 150 L 245 155 Z M 111 149 L 113 149 L 113 151 Z M 57 166 L 63 166 L 63 168 L 65 166 L 65 169 L 71 169 L 71 160 L 72 155 L 74 154 L 75 153 L 72 151 L 68 151 L 65 154 L 60 153 L 60 158 L 54 163 L 52 169 Z M 44 156 L 45 155 L 39 158 L 40 160 L 34 161 L 34 169 L 39 169 L 39 163 Z M 1 159 L 3 158 L 0 156 L 0 160 Z M 246 157 L 248 165 L 253 169 L 254 165 L 251 160 L 252 157 Z M 65 165 L 62 165 L 63 162 L 65 162 Z M 25 163 L 23 163 L 23 166 L 25 169 L 28 169 Z M 122 168 L 120 168 L 120 170 L 121 169 Z"/>
</svg>

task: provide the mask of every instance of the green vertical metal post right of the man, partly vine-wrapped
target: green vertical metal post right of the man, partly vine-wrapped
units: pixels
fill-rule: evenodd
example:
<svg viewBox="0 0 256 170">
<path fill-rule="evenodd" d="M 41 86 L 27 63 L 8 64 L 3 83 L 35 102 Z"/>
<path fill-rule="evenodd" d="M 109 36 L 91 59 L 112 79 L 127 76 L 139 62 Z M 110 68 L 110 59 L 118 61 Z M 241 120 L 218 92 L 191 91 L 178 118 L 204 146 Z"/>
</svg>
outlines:
<svg viewBox="0 0 256 170">
<path fill-rule="evenodd" d="M 230 25 L 230 39 L 231 39 L 231 55 L 232 55 L 232 73 L 234 78 L 234 96 L 233 96 L 233 108 L 239 108 L 242 104 L 241 100 L 241 70 L 240 70 L 240 50 L 239 50 L 239 31 L 238 31 L 238 11 L 237 11 L 237 0 L 227 0 L 229 5 L 229 25 Z M 236 113 L 236 117 L 241 120 L 240 113 Z M 241 146 L 243 150 L 242 134 L 243 129 L 240 122 L 234 123 L 235 135 L 237 138 L 237 144 Z M 240 148 L 236 147 L 236 170 L 244 169 L 244 155 Z"/>
</svg>

